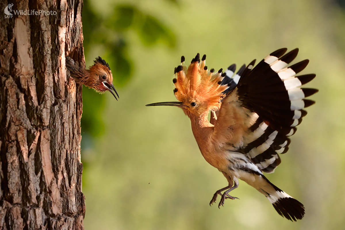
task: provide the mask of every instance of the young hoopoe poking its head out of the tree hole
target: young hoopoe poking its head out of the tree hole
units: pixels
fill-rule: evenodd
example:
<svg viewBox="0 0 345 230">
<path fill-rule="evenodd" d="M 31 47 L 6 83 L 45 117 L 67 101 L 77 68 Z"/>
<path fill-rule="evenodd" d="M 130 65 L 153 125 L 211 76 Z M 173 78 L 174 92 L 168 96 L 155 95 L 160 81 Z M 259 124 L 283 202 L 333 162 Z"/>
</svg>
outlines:
<svg viewBox="0 0 345 230">
<path fill-rule="evenodd" d="M 90 66 L 88 70 L 80 69 L 78 64 L 75 63 L 72 58 L 66 57 L 66 68 L 77 84 L 84 84 L 99 93 L 104 93 L 108 90 L 117 100 L 114 92 L 117 97 L 119 97 L 119 94 L 117 94 L 116 89 L 112 84 L 112 74 L 109 64 L 101 57 L 96 58 L 93 62 L 95 64 Z M 114 92 L 112 90 L 114 90 Z"/>
</svg>

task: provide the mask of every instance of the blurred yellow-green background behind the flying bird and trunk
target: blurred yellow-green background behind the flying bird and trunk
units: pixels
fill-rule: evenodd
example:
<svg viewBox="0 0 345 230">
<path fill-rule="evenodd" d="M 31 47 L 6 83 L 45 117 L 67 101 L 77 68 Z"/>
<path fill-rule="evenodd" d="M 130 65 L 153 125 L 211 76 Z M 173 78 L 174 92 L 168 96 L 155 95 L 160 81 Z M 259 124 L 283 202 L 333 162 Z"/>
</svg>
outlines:
<svg viewBox="0 0 345 230">
<path fill-rule="evenodd" d="M 85 0 L 87 66 L 101 56 L 120 95 L 83 88 L 85 229 L 344 229 L 344 0 Z M 310 59 L 306 87 L 320 91 L 267 177 L 301 201 L 302 221 L 280 217 L 240 181 L 240 200 L 209 206 L 224 176 L 201 156 L 190 121 L 174 107 L 174 68 L 207 54 L 209 68 L 241 66 L 287 47 Z"/>
</svg>

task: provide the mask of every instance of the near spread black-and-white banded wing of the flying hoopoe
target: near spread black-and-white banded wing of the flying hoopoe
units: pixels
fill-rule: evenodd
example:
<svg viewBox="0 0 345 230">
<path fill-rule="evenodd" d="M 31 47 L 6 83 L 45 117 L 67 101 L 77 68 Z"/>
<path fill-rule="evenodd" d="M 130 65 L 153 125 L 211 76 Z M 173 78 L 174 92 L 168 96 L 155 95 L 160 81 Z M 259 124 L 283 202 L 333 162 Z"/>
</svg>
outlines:
<svg viewBox="0 0 345 230">
<path fill-rule="evenodd" d="M 239 139 L 236 135 L 243 133 L 243 144 L 234 146 L 239 146 L 258 168 L 267 173 L 279 165 L 278 153 L 288 150 L 288 137 L 296 132 L 296 126 L 307 114 L 304 108 L 315 103 L 305 98 L 318 91 L 300 88 L 314 79 L 315 74 L 295 76 L 309 60 L 287 67 L 297 56 L 298 49 L 283 56 L 286 50 L 274 51 L 255 68 L 255 60 L 252 61 L 236 88 L 223 99 L 218 119 L 213 121 L 215 134 L 225 134 L 224 127 L 233 132 L 236 139 Z M 234 113 L 247 116 L 247 119 L 238 119 Z M 240 131 L 237 131 L 239 127 Z"/>
</svg>

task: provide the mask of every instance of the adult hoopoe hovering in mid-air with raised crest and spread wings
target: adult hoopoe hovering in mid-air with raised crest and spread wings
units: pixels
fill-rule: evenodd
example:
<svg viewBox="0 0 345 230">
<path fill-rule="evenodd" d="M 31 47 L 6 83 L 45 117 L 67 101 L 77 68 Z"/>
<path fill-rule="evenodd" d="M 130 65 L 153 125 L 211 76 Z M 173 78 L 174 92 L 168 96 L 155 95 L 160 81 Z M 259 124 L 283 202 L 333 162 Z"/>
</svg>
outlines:
<svg viewBox="0 0 345 230">
<path fill-rule="evenodd" d="M 294 221 L 304 216 L 303 204 L 263 174 L 274 172 L 280 164 L 278 153 L 287 152 L 288 137 L 307 114 L 304 108 L 315 103 L 305 98 L 318 92 L 299 88 L 315 74 L 295 76 L 309 60 L 287 67 L 298 49 L 284 55 L 286 51 L 274 51 L 255 67 L 253 60 L 236 74 L 235 64 L 224 73 L 222 69 L 216 73 L 208 70 L 206 55 L 200 62 L 199 53 L 187 68 L 182 56 L 173 79 L 179 101 L 146 105 L 180 107 L 190 118 L 201 154 L 228 181 L 228 186 L 216 191 L 210 204 L 216 202 L 218 195 L 218 207 L 225 199 L 235 199 L 229 192 L 238 187 L 241 179 L 264 194 L 281 216 Z"/>
</svg>

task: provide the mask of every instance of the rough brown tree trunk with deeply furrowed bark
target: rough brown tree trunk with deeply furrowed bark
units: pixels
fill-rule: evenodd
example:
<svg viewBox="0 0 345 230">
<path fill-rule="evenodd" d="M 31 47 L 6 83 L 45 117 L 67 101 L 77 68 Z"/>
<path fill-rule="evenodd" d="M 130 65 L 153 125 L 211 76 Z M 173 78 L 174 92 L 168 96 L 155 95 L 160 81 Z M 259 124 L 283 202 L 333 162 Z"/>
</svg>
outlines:
<svg viewBox="0 0 345 230">
<path fill-rule="evenodd" d="M 0 0 L 0 230 L 84 229 L 81 86 L 65 67 L 66 55 L 85 63 L 81 9 L 82 0 Z"/>
</svg>

